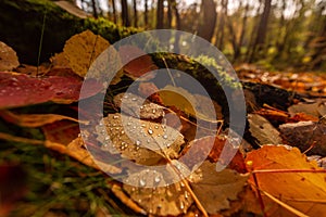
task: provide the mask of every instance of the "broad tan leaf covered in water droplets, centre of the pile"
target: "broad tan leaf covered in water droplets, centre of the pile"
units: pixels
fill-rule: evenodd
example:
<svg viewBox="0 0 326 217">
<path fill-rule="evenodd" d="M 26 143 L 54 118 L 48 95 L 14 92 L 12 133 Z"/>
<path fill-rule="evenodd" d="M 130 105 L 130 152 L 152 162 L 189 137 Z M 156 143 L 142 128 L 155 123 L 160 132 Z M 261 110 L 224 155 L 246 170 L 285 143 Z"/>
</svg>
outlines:
<svg viewBox="0 0 326 217">
<path fill-rule="evenodd" d="M 184 137 L 177 130 L 131 116 L 109 114 L 97 127 L 102 149 L 111 154 L 141 165 L 155 165 L 166 157 L 176 158 L 184 144 Z"/>
</svg>

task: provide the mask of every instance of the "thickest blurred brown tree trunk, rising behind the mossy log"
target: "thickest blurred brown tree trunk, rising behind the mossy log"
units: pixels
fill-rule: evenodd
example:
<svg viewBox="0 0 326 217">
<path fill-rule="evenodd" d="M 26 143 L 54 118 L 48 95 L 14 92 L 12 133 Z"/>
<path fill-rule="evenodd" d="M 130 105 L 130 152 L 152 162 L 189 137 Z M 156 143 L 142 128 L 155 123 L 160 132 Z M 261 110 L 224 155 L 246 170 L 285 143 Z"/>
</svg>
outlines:
<svg viewBox="0 0 326 217">
<path fill-rule="evenodd" d="M 217 16 L 214 0 L 202 0 L 201 10 L 202 20 L 197 28 L 198 36 L 206 39 L 208 41 L 211 41 L 214 34 Z"/>
</svg>

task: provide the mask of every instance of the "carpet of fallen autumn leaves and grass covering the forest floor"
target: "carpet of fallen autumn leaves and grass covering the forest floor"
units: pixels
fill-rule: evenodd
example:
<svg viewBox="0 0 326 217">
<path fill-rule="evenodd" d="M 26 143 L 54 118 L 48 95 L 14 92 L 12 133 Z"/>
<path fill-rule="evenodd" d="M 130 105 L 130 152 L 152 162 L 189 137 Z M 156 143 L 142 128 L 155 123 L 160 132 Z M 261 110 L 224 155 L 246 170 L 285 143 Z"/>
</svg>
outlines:
<svg viewBox="0 0 326 217">
<path fill-rule="evenodd" d="M 171 91 L 158 92 L 158 87 L 150 81 L 152 78 L 137 80 L 137 94 L 126 93 L 135 79 L 159 68 L 151 56 L 143 54 L 126 64 L 105 92 L 102 84 L 87 80 L 91 91 L 80 99 L 91 62 L 109 46 L 105 39 L 87 30 L 67 40 L 63 52 L 55 54 L 50 65 L 18 66 L 13 50 L 9 51 L 10 59 L 1 59 L 0 191 L 12 195 L 1 203 L 1 214 L 324 215 L 326 107 L 323 98 L 286 99 L 290 103 L 287 110 L 280 110 L 278 102 L 273 106 L 258 103 L 260 92 L 244 88 L 250 113 L 244 137 L 239 138 L 228 133 L 223 102 L 214 101 L 214 111 L 209 111 L 218 119 L 218 128 L 210 129 L 214 120 L 202 115 L 208 112 L 205 102 L 210 101 L 204 95 L 173 86 L 166 88 Z M 137 48 L 127 51 L 142 52 Z M 122 48 L 117 53 L 123 58 L 126 50 Z M 271 84 L 259 85 L 261 92 L 271 88 Z M 155 93 L 145 99 L 149 92 Z M 281 95 L 290 97 L 291 92 L 288 93 Z M 77 103 L 91 102 L 99 94 L 105 95 L 104 117 L 96 123 L 95 131 L 80 133 L 79 125 L 88 126 L 91 119 L 77 118 Z M 135 113 L 136 108 L 139 114 Z M 83 117 L 90 115 L 82 112 L 85 112 Z M 216 130 L 216 135 L 196 138 L 198 119 L 208 126 L 201 130 Z M 137 135 L 136 139 L 133 135 Z M 92 157 L 89 150 L 100 153 L 99 157 Z M 221 170 L 222 150 L 233 159 Z M 202 153 L 208 156 L 197 165 Z M 186 166 L 178 159 L 187 154 L 193 157 Z M 140 165 L 165 165 L 168 173 L 135 170 L 128 164 L 121 169 L 125 161 L 117 156 Z M 64 174 L 60 174 L 63 168 Z M 121 183 L 106 174 L 128 176 Z M 12 182 L 17 176 L 30 177 L 35 182 L 41 180 L 46 195 L 23 179 Z M 166 184 L 168 178 L 178 181 Z M 10 184 L 17 191 L 2 188 Z M 53 200 L 33 204 L 36 197 L 45 200 L 45 196 Z"/>
</svg>

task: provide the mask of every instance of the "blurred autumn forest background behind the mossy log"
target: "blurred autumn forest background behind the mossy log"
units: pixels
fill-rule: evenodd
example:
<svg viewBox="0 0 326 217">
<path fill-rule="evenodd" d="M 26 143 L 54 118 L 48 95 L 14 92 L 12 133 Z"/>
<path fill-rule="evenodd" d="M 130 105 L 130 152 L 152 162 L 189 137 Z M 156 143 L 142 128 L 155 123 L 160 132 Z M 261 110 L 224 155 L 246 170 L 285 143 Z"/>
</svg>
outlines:
<svg viewBox="0 0 326 217">
<path fill-rule="evenodd" d="M 234 64 L 326 69 L 325 0 L 68 1 L 116 25 L 196 34 Z"/>
</svg>

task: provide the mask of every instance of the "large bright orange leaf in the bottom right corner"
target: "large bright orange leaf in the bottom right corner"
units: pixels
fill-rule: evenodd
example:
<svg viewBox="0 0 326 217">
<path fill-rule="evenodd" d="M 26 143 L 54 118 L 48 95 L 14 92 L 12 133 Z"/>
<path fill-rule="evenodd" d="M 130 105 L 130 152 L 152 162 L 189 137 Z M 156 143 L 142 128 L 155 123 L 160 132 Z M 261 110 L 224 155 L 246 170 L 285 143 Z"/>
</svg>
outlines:
<svg viewBox="0 0 326 217">
<path fill-rule="evenodd" d="M 246 161 L 250 162 L 253 170 L 269 170 L 255 174 L 258 188 L 308 216 L 325 215 L 326 174 L 316 173 L 322 168 L 317 167 L 315 162 L 309 162 L 297 148 L 264 145 L 249 153 Z M 273 173 L 278 169 L 293 169 L 293 171 Z M 300 169 L 312 171 L 300 173 Z M 252 177 L 250 182 L 254 184 Z M 263 199 L 267 216 L 285 215 L 278 204 L 265 196 Z"/>
</svg>

